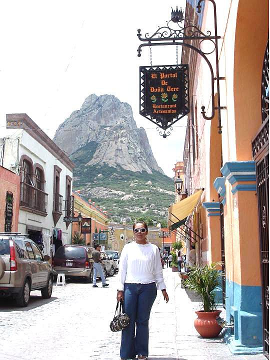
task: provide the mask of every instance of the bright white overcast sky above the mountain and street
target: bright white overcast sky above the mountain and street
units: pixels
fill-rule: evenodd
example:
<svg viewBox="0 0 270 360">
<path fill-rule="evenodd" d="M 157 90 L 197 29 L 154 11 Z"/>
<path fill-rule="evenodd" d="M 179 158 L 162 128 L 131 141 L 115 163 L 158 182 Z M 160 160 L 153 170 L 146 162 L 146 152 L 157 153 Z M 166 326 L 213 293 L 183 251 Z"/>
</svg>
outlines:
<svg viewBox="0 0 270 360">
<path fill-rule="evenodd" d="M 113 94 L 127 102 L 145 128 L 158 165 L 172 177 L 182 160 L 185 117 L 163 138 L 139 114 L 139 66 L 150 64 L 149 48 L 136 34 L 153 33 L 170 19 L 161 0 L 8 0 L 0 2 L 0 134 L 6 113 L 27 113 L 53 137 L 56 128 L 84 99 Z M 178 61 L 180 62 L 178 48 Z M 152 48 L 152 64 L 175 64 L 176 47 Z"/>
</svg>

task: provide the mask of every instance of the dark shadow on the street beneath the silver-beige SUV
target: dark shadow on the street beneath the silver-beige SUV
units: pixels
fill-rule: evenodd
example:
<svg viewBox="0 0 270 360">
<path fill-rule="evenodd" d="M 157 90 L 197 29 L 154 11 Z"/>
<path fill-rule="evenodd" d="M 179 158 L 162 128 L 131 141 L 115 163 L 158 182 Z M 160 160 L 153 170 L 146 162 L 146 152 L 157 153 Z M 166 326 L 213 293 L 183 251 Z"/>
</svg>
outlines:
<svg viewBox="0 0 270 360">
<path fill-rule="evenodd" d="M 28 306 L 19 307 L 16 305 L 16 301 L 12 299 L 0 299 L 0 312 L 9 312 L 9 311 L 29 311 L 36 307 L 47 304 L 51 301 L 56 300 L 58 297 L 51 296 L 49 299 L 43 299 L 37 295 L 30 295 Z"/>
</svg>

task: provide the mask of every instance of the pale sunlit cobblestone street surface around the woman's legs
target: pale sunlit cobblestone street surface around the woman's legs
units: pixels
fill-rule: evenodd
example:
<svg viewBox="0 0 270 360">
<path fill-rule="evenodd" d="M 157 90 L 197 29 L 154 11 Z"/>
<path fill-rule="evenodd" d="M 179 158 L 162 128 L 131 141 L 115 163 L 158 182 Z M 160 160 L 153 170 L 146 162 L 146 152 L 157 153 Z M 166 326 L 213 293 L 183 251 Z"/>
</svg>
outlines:
<svg viewBox="0 0 270 360">
<path fill-rule="evenodd" d="M 223 339 L 202 339 L 193 327 L 198 302 L 179 285 L 178 273 L 164 269 L 166 304 L 158 293 L 150 319 L 149 360 L 263 360 L 259 355 L 231 355 Z M 117 275 L 107 288 L 82 281 L 53 286 L 44 300 L 33 291 L 29 306 L 0 302 L 0 360 L 117 360 L 120 332 L 112 333 Z M 99 282 L 100 286 L 100 282 Z M 176 326 L 177 324 L 177 326 Z"/>
</svg>

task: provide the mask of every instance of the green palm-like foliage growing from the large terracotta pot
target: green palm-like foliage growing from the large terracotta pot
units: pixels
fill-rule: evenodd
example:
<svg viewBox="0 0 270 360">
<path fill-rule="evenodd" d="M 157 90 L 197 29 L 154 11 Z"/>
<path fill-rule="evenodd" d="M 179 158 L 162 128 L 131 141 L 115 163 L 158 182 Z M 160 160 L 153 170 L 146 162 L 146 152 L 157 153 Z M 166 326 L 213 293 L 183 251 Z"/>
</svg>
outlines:
<svg viewBox="0 0 270 360">
<path fill-rule="evenodd" d="M 213 290 L 219 284 L 219 278 L 224 274 L 216 269 L 220 262 L 206 264 L 204 266 L 189 266 L 188 278 L 183 280 L 184 285 L 199 295 L 204 312 L 216 310 Z"/>
</svg>

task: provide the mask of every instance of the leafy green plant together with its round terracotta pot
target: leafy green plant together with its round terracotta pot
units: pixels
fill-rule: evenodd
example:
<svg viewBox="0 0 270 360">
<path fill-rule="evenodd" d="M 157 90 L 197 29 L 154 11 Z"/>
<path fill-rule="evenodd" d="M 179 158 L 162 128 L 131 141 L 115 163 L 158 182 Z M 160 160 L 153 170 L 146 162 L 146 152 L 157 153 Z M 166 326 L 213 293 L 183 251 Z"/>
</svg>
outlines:
<svg viewBox="0 0 270 360">
<path fill-rule="evenodd" d="M 197 318 L 194 326 L 202 337 L 216 337 L 222 327 L 216 322 L 221 310 L 216 310 L 214 289 L 219 284 L 219 278 L 224 274 L 217 270 L 220 263 L 211 263 L 204 266 L 189 266 L 188 278 L 183 280 L 184 285 L 199 295 L 202 309 L 195 311 Z"/>
</svg>

